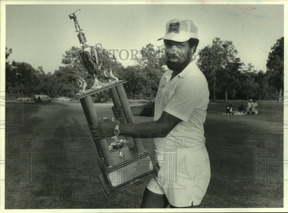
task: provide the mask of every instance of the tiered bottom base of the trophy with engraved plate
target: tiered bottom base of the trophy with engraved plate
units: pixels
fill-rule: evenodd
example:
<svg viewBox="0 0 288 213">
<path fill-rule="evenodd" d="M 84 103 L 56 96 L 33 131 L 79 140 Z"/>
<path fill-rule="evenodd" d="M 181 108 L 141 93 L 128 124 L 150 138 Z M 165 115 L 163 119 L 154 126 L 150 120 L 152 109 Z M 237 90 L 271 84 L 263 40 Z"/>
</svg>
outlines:
<svg viewBox="0 0 288 213">
<path fill-rule="evenodd" d="M 102 189 L 104 189 L 108 197 L 127 189 L 134 189 L 134 186 L 151 179 L 157 174 L 148 152 L 137 155 L 137 157 L 128 161 L 123 160 L 120 164 L 116 164 L 111 168 L 105 167 L 103 162 L 100 159 L 98 160 L 102 171 L 102 174 L 99 174 L 98 178 Z"/>
</svg>

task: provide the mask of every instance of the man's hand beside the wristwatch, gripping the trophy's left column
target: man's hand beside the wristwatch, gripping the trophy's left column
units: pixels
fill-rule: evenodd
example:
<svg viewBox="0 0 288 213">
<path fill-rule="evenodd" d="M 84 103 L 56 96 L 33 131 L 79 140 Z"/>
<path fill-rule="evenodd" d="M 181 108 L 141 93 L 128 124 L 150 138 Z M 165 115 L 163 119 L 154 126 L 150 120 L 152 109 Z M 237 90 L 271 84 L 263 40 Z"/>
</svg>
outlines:
<svg viewBox="0 0 288 213">
<path fill-rule="evenodd" d="M 110 119 L 99 121 L 100 123 L 90 126 L 93 138 L 100 140 L 106 136 L 114 136 L 114 129 L 117 123 L 111 121 Z"/>
</svg>

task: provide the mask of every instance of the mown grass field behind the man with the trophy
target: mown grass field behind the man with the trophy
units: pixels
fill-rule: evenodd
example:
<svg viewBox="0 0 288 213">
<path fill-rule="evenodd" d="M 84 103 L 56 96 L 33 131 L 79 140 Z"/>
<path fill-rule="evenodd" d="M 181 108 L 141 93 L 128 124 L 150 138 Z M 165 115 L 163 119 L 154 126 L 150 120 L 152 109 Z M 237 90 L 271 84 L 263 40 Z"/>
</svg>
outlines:
<svg viewBox="0 0 288 213">
<path fill-rule="evenodd" d="M 279 164 L 283 159 L 283 126 L 273 125 L 273 112 L 266 108 L 268 116 L 265 122 L 269 125 L 264 125 L 262 101 L 258 101 L 257 115 L 221 115 L 229 104 L 236 109 L 246 102 L 209 103 L 204 129 L 211 181 L 200 208 L 283 208 L 283 169 Z M 112 104 L 95 104 L 95 107 L 99 117 L 113 117 Z M 21 110 L 15 112 L 13 123 L 21 124 L 22 119 L 23 125 L 6 126 L 6 159 L 9 164 L 5 176 L 5 209 L 140 207 L 145 183 L 111 198 L 101 188 L 97 178 L 101 173 L 98 154 L 80 103 L 24 102 L 23 113 Z M 43 145 L 34 149 L 34 182 L 43 189 L 12 189 L 20 183 L 20 164 L 11 163 L 20 159 L 20 148 L 11 145 L 15 136 L 25 140 L 29 140 L 28 136 L 43 139 Z M 254 186 L 273 185 L 276 189 L 245 189 L 254 183 L 255 150 L 245 145 L 249 136 L 256 138 L 257 149 L 265 148 L 267 138 L 276 140 L 276 145 L 267 149 L 268 180 L 261 186 Z M 153 155 L 153 144 L 144 139 L 142 142 Z M 273 160 L 278 161 L 270 164 Z"/>
</svg>

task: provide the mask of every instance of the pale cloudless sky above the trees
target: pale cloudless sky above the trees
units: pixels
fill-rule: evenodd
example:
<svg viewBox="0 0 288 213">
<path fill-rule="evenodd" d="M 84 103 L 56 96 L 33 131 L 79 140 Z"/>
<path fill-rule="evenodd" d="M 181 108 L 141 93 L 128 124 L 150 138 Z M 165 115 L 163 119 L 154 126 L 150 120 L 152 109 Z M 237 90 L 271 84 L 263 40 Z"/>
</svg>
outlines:
<svg viewBox="0 0 288 213">
<path fill-rule="evenodd" d="M 1 29 L 1 39 L 4 34 L 5 46 L 12 48 L 8 61 L 26 62 L 35 69 L 42 66 L 45 73 L 54 73 L 59 66 L 63 66 L 61 61 L 65 51 L 72 46 L 81 46 L 74 22 L 68 17 L 77 9 L 81 9 L 75 15 L 85 33 L 86 44 L 101 43 L 108 50 L 128 50 L 127 60 L 120 60 L 115 52 L 117 60 L 124 67 L 134 64 L 130 60 L 131 49 L 140 50 L 149 43 L 161 46 L 163 40 L 157 39 L 165 35 L 166 23 L 173 18 L 190 19 L 195 23 L 200 40 L 198 49 L 211 45 L 215 37 L 232 41 L 242 62 L 251 63 L 256 70 L 264 72 L 271 47 L 284 36 L 284 5 L 263 4 L 278 1 L 249 1 L 249 4 L 241 1 L 244 4 L 238 5 L 231 4 L 236 1 L 220 2 L 229 4 L 179 1 L 185 4 L 177 5 L 167 4 L 175 1 L 140 1 L 149 2 L 141 5 L 120 4 L 130 1 L 100 1 L 109 4 L 92 5 L 89 1 L 68 1 L 69 4 L 63 4 L 67 1 L 60 1 L 61 4 L 50 1 L 58 4 L 49 5 L 39 4 L 47 1 L 28 1 L 30 4 L 17 1 L 21 2 L 24 4 L 6 5 L 5 16 L 2 15 L 1 19 L 5 18 L 5 28 L 2 26 L 5 31 Z M 82 2 L 89 4 L 77 4 Z M 126 51 L 121 56 L 125 59 Z"/>
</svg>

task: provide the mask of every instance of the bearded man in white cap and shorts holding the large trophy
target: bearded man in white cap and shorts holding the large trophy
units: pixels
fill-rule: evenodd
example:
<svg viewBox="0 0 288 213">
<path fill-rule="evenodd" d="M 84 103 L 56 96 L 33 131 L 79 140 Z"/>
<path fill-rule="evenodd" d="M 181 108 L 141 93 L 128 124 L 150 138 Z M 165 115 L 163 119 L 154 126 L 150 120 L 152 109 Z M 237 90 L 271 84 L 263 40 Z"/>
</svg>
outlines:
<svg viewBox="0 0 288 213">
<path fill-rule="evenodd" d="M 142 108 L 138 113 L 138 116 L 155 115 L 155 123 L 137 125 L 137 133 L 133 133 L 127 129 L 135 126 L 116 125 L 106 119 L 91 126 L 91 132 L 99 140 L 113 134 L 116 126 L 123 136 L 164 139 L 165 147 L 155 141 L 158 178 L 147 182 L 141 208 L 166 208 L 168 204 L 170 208 L 192 208 L 202 201 L 211 176 L 203 128 L 209 90 L 206 78 L 192 60 L 199 42 L 198 29 L 191 20 L 173 19 L 166 24 L 166 34 L 160 39 L 164 39 L 170 69 L 163 74 L 158 88 L 166 106 L 155 102 L 155 111 Z M 119 109 L 112 107 L 112 110 L 116 119 L 122 117 Z M 166 125 L 161 125 L 165 121 Z M 151 133 L 154 128 L 161 131 Z M 179 138 L 181 144 L 177 143 Z"/>
</svg>

